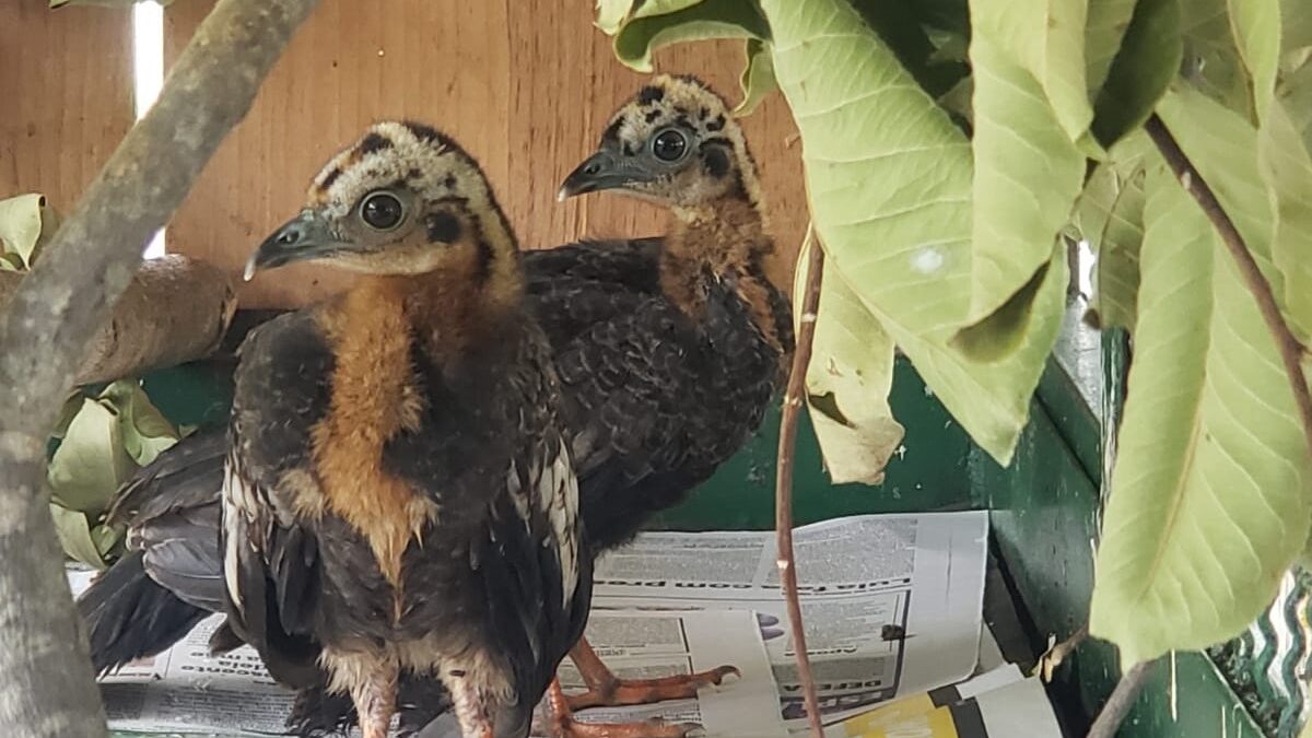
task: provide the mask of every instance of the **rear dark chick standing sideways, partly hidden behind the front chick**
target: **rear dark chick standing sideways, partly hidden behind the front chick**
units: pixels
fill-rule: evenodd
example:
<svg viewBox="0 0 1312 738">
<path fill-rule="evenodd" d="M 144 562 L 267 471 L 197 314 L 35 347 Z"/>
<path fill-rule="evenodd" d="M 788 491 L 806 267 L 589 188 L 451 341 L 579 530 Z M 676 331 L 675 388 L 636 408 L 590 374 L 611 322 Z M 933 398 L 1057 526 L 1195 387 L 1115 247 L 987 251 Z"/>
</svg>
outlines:
<svg viewBox="0 0 1312 738">
<path fill-rule="evenodd" d="M 598 190 L 663 205 L 670 221 L 663 242 L 563 247 L 529 273 L 556 351 L 594 552 L 631 540 L 743 446 L 792 351 L 785 264 L 756 165 L 706 84 L 659 76 L 627 101 L 560 198 Z M 736 671 L 617 679 L 586 640 L 571 658 L 588 684 L 568 697 L 573 709 L 690 697 Z M 562 703 L 559 684 L 552 695 Z"/>
</svg>

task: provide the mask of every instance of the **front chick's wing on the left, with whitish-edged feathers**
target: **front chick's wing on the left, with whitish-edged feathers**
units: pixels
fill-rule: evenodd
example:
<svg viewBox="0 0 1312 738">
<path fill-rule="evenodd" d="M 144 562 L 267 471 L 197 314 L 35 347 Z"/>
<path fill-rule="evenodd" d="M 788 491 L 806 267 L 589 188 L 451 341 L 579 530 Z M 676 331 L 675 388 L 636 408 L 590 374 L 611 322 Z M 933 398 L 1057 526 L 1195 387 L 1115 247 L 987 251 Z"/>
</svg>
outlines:
<svg viewBox="0 0 1312 738">
<path fill-rule="evenodd" d="M 319 553 L 300 511 L 319 496 L 306 488 L 311 431 L 328 410 L 333 356 L 308 311 L 260 326 L 239 356 L 220 527 L 228 622 L 298 685 L 316 676 Z"/>
</svg>

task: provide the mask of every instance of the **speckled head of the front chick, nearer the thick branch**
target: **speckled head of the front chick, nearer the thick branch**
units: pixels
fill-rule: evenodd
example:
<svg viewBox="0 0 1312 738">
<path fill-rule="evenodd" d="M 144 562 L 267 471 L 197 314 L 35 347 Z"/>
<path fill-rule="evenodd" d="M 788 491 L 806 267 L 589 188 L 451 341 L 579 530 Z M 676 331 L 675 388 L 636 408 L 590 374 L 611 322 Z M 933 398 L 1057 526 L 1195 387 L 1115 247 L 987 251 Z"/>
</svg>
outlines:
<svg viewBox="0 0 1312 738">
<path fill-rule="evenodd" d="M 429 126 L 380 122 L 324 165 L 308 202 L 247 261 L 261 269 L 321 260 L 369 274 L 420 274 L 463 263 L 487 271 L 516 251 L 478 163 Z"/>
</svg>

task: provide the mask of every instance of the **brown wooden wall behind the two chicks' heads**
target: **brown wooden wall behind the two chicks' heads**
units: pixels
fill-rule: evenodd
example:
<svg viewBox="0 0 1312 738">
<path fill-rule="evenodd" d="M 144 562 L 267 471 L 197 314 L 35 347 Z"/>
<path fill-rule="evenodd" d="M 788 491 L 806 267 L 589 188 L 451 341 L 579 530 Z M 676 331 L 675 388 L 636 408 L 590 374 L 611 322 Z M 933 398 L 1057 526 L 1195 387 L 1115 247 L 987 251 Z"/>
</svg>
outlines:
<svg viewBox="0 0 1312 738">
<path fill-rule="evenodd" d="M 165 58 L 209 3 L 165 13 Z M 236 272 L 300 206 L 321 163 L 370 122 L 436 125 L 482 162 L 526 248 L 583 236 L 664 231 L 657 209 L 614 196 L 555 201 L 562 179 L 596 146 L 615 106 L 644 75 L 618 62 L 592 25 L 592 3 L 518 0 L 324 0 L 278 63 L 255 109 L 210 163 L 169 231 L 169 250 Z M 657 55 L 657 71 L 690 72 L 736 101 L 741 43 L 698 43 Z M 762 168 L 781 246 L 796 253 L 806 200 L 787 106 L 771 97 L 744 121 Z M 247 307 L 299 306 L 348 284 L 315 267 L 257 277 Z"/>
</svg>

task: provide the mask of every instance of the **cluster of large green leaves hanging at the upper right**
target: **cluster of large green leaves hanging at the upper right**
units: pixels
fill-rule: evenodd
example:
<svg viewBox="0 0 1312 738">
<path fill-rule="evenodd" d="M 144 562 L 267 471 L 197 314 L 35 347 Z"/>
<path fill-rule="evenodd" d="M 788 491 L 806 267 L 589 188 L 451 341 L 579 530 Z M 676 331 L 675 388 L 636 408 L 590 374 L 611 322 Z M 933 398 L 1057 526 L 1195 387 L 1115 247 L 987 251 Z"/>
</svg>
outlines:
<svg viewBox="0 0 1312 738">
<path fill-rule="evenodd" d="M 1261 612 L 1308 540 L 1312 429 L 1250 288 L 1141 129 L 1166 126 L 1281 319 L 1312 336 L 1300 0 L 598 8 L 635 68 L 663 43 L 745 39 L 741 109 L 774 84 L 787 100 L 828 256 L 807 383 L 832 473 L 878 478 L 899 443 L 862 433 L 896 424 L 893 345 L 1008 464 L 1065 309 L 1065 239 L 1084 239 L 1093 310 L 1135 345 L 1092 632 L 1128 663 L 1225 640 Z"/>
</svg>

